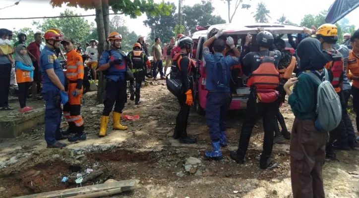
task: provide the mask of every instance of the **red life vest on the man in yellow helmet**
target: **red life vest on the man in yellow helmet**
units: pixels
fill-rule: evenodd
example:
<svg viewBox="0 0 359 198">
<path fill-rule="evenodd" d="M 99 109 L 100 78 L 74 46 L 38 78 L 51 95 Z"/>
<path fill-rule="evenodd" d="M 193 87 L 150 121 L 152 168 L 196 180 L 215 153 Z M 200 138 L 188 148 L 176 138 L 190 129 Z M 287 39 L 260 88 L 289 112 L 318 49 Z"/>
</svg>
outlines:
<svg viewBox="0 0 359 198">
<path fill-rule="evenodd" d="M 340 77 L 343 74 L 344 71 L 344 60 L 342 55 L 338 50 L 336 50 L 336 53 L 326 51 L 331 57 L 332 61 L 325 64 L 325 68 L 328 70 L 328 74 L 330 77 L 332 77 L 332 81 L 330 82 L 334 88 L 334 90 L 338 93 L 341 91 L 341 83 Z"/>
</svg>

